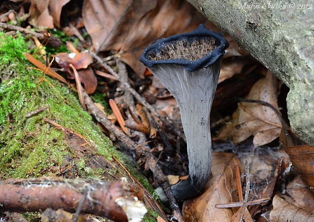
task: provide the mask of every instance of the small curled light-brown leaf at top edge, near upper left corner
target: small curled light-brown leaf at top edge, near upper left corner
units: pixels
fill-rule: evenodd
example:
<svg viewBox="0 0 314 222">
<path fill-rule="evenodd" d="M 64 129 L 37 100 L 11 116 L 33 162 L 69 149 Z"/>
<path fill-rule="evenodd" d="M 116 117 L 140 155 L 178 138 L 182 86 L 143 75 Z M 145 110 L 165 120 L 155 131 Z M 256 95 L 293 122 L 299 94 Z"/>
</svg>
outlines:
<svg viewBox="0 0 314 222">
<path fill-rule="evenodd" d="M 54 28 L 60 27 L 62 7 L 70 0 L 31 0 L 29 8 L 31 19 L 35 25 Z"/>
</svg>

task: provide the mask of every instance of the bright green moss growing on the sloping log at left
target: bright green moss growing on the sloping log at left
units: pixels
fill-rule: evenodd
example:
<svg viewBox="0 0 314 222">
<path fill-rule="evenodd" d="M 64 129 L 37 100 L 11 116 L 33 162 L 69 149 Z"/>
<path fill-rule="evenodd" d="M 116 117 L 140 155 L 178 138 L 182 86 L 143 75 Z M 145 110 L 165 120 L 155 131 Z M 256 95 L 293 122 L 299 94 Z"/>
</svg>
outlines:
<svg viewBox="0 0 314 222">
<path fill-rule="evenodd" d="M 71 89 L 46 76 L 52 83 L 40 81 L 40 71 L 27 69 L 27 51 L 21 36 L 0 33 L 0 175 L 1 179 L 43 176 L 54 165 L 61 165 L 70 147 L 64 133 L 44 118 L 87 138 L 96 153 L 111 159 L 114 148 L 101 130 L 84 112 Z M 12 50 L 14 48 L 14 50 Z M 67 103 L 62 97 L 66 98 Z M 48 108 L 30 118 L 26 114 L 46 105 Z M 84 169 L 85 176 L 101 174 Z M 103 171 L 102 171 L 103 172 Z"/>
</svg>

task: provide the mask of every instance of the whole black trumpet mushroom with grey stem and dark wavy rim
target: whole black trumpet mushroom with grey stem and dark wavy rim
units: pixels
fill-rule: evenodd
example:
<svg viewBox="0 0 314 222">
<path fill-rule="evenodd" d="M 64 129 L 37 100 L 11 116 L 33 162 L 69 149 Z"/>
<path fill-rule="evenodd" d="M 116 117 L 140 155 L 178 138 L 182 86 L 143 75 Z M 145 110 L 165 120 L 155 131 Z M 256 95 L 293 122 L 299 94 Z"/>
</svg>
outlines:
<svg viewBox="0 0 314 222">
<path fill-rule="evenodd" d="M 221 33 L 199 25 L 191 32 L 157 40 L 140 58 L 171 92 L 180 108 L 189 178 L 172 186 L 177 200 L 200 194 L 211 174 L 209 116 L 222 56 L 228 46 Z"/>
</svg>

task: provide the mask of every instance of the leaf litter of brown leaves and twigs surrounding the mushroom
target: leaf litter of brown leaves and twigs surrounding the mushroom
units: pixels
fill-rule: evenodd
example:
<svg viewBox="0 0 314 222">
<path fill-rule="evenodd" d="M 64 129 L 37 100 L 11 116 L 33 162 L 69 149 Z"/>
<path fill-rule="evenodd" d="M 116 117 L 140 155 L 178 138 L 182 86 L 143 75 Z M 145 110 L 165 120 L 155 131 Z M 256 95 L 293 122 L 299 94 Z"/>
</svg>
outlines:
<svg viewBox="0 0 314 222">
<path fill-rule="evenodd" d="M 75 78 L 72 69 L 69 69 L 71 64 L 74 69 L 77 69 L 76 84 L 82 82 L 88 94 L 104 93 L 104 101 L 110 103 L 109 98 L 120 101 L 120 103 L 114 103 L 113 115 L 115 117 L 111 119 L 112 124 L 117 126 L 114 121 L 117 119 L 121 127 L 121 129 L 117 128 L 118 130 L 124 131 L 125 136 L 140 144 L 139 147 L 151 149 L 150 154 L 158 158 L 158 164 L 168 175 L 171 184 L 186 180 L 188 169 L 185 142 L 184 139 L 179 139 L 175 133 L 178 130 L 182 131 L 178 106 L 165 87 L 139 63 L 138 58 L 142 50 L 156 39 L 190 31 L 200 23 L 214 31 L 221 31 L 191 5 L 181 1 L 125 0 L 119 4 L 101 0 L 85 1 L 84 5 L 80 6 L 81 15 L 65 19 L 62 16 L 62 9 L 71 9 L 70 6 L 71 1 L 68 0 L 61 2 L 31 0 L 28 22 L 36 30 L 33 34 L 38 34 L 38 36 L 42 36 L 40 34 L 44 27 L 63 28 L 66 34 L 71 36 L 72 42 L 76 37 L 78 38 L 78 48 L 81 52 L 73 45 L 68 44 L 67 48 L 71 53 L 65 51 L 56 53 L 54 55 L 56 63 L 53 64 L 53 69 L 30 54 L 25 53 L 25 56 L 48 75 L 73 86 Z M 21 5 L 17 8 L 19 16 L 23 15 L 24 7 L 28 6 Z M 75 12 L 73 15 L 76 15 Z M 180 22 L 177 18 L 180 18 Z M 2 21 L 9 19 L 14 21 L 12 16 Z M 64 20 L 67 19 L 67 23 L 64 23 Z M 64 24 L 67 25 L 64 26 Z M 29 33 L 26 29 L 23 31 Z M 86 37 L 86 34 L 90 38 Z M 215 123 L 212 126 L 218 133 L 213 135 L 216 152 L 213 153 L 212 176 L 200 196 L 183 203 L 183 216 L 186 221 L 241 221 L 243 216 L 246 217 L 245 221 L 253 221 L 252 218 L 258 221 L 260 219 L 262 221 L 262 218 L 267 221 L 286 221 L 286 219 L 306 221 L 304 219 L 307 218 L 307 221 L 311 221 L 311 206 L 314 204 L 314 195 L 310 191 L 313 187 L 311 160 L 313 147 L 303 144 L 300 146 L 289 139 L 287 139 L 290 141 L 289 143 L 282 142 L 283 120 L 286 119 L 279 118 L 278 112 L 282 112 L 282 116 L 287 115 L 286 111 L 278 105 L 279 95 L 283 93 L 282 83 L 269 71 L 265 72 L 265 69 L 261 68 L 260 64 L 226 33 L 223 34 L 229 41 L 230 47 L 226 50 L 219 77 L 219 83 L 224 87 L 220 88 L 218 85 L 216 97 L 224 100 L 226 95 L 230 95 L 230 93 L 225 93 L 229 90 L 228 87 L 233 87 L 233 83 L 236 83 L 239 78 L 251 79 L 251 82 L 243 81 L 237 85 L 239 89 L 241 87 L 250 89 L 245 98 L 268 103 L 277 112 L 261 103 L 245 101 L 237 103 L 237 97 L 244 97 L 244 93 L 239 90 L 231 93 L 233 101 L 229 102 L 230 104 L 219 106 L 222 103 L 214 101 L 211 118 Z M 43 38 L 39 41 L 45 45 Z M 126 72 L 129 78 L 126 81 L 144 99 L 149 101 L 162 117 L 170 118 L 176 128 L 169 129 L 169 126 L 161 124 L 160 120 L 151 115 L 138 100 L 134 100 L 134 102 L 126 100 L 124 96 L 127 91 L 123 84 L 118 84 L 121 80 L 112 76 L 110 70 L 96 64 L 85 49 L 98 52 L 114 71 L 118 69 L 117 60 L 122 60 L 127 64 Z M 50 55 L 47 54 L 47 56 Z M 256 74 L 262 78 L 256 78 Z M 234 85 L 234 87 L 236 86 Z M 73 89 L 76 90 L 75 87 Z M 82 105 L 85 105 L 83 100 L 81 102 Z M 102 110 L 100 112 L 105 112 L 100 103 L 97 105 Z M 106 114 L 106 116 L 110 116 L 110 114 Z M 230 122 L 224 121 L 228 119 L 231 119 Z M 132 124 L 130 125 L 130 123 Z M 287 130 L 289 131 L 289 128 Z M 65 131 L 66 134 L 69 134 L 70 129 L 65 129 Z M 151 133 L 152 131 L 154 133 Z M 104 132 L 109 134 L 116 147 L 122 148 L 117 143 L 119 138 L 112 137 L 112 132 L 107 129 Z M 280 140 L 279 136 L 281 136 Z M 68 142 L 71 143 L 71 141 Z M 78 137 L 71 145 L 77 156 L 90 152 L 82 146 L 82 143 L 84 143 L 84 138 Z M 280 147 L 280 145 L 283 146 Z M 145 163 L 145 158 L 139 157 L 139 153 L 143 150 L 145 148 L 140 148 L 139 152 L 133 153 L 133 158 L 140 165 Z M 240 173 L 237 179 L 235 169 L 242 169 L 244 160 L 247 160 L 250 165 L 250 175 L 241 170 L 242 174 Z M 149 170 L 147 170 L 146 176 L 153 187 L 160 186 L 155 181 L 156 176 L 149 173 Z M 251 180 L 249 188 L 246 187 L 243 180 L 248 176 Z M 237 183 L 238 185 L 240 183 L 240 186 L 237 186 Z M 240 201 L 242 197 L 239 197 L 240 188 L 248 189 L 248 191 L 246 190 L 249 193 L 246 207 L 241 205 L 243 202 Z M 250 201 L 263 200 L 263 198 L 273 198 L 273 201 L 272 203 L 261 202 L 258 205 L 249 204 Z M 239 202 L 240 208 L 215 207 L 216 204 L 228 203 L 232 206 L 234 202 Z M 172 210 L 174 209 L 172 208 Z M 158 220 L 165 219 L 159 217 Z"/>
</svg>

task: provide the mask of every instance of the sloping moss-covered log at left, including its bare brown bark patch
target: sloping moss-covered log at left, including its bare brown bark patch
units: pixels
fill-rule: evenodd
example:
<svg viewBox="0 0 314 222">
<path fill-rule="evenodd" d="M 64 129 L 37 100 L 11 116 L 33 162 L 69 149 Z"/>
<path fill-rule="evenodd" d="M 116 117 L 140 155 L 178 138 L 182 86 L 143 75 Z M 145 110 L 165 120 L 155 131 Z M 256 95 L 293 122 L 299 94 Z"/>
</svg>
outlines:
<svg viewBox="0 0 314 222">
<path fill-rule="evenodd" d="M 0 180 L 59 176 L 116 181 L 126 177 L 135 187 L 141 186 L 135 181 L 146 185 L 143 201 L 152 209 L 150 214 L 164 215 L 147 180 L 115 150 L 83 110 L 76 93 L 29 68 L 23 53 L 30 49 L 23 37 L 0 33 L 0 39 Z M 29 115 L 38 108 L 40 112 Z"/>
</svg>

